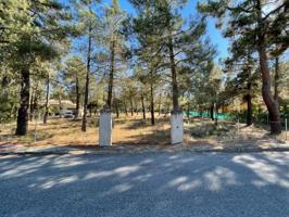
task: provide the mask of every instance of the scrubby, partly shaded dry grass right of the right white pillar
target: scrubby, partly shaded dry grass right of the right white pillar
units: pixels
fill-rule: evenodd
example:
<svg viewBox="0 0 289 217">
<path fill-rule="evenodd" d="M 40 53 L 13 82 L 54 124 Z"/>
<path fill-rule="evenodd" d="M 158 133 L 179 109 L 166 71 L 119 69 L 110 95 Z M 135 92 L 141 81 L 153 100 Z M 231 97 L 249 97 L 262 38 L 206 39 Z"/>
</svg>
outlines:
<svg viewBox="0 0 289 217">
<path fill-rule="evenodd" d="M 272 136 L 261 126 L 246 126 L 229 122 L 218 122 L 215 126 L 210 119 L 193 119 L 185 124 L 185 142 L 190 146 L 224 148 L 272 148 L 287 145 L 285 133 Z"/>
</svg>

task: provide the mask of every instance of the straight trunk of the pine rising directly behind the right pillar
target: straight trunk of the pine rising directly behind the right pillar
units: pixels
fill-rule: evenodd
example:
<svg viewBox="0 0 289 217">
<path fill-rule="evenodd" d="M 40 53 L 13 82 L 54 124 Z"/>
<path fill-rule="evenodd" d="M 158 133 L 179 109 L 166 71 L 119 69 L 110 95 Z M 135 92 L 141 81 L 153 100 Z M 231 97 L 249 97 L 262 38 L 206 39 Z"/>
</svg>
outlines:
<svg viewBox="0 0 289 217">
<path fill-rule="evenodd" d="M 179 103 L 178 103 L 178 82 L 177 82 L 177 72 L 176 72 L 176 63 L 175 63 L 175 54 L 174 54 L 174 46 L 173 39 L 169 38 L 168 42 L 169 50 L 169 60 L 171 60 L 171 71 L 172 71 L 172 86 L 173 86 L 173 111 L 179 112 Z"/>
</svg>

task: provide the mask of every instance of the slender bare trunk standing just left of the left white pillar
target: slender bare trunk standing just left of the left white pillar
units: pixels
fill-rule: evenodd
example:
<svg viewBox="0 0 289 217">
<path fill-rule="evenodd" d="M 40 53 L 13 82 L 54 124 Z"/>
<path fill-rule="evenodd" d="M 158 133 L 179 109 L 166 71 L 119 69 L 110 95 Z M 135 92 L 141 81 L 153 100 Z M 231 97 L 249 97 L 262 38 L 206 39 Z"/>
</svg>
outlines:
<svg viewBox="0 0 289 217">
<path fill-rule="evenodd" d="M 89 91 L 89 75 L 90 75 L 90 61 L 91 61 L 91 24 L 88 30 L 88 51 L 87 51 L 87 64 L 86 64 L 86 88 L 85 88 L 85 103 L 84 103 L 84 116 L 81 130 L 86 132 L 87 125 L 87 104 L 88 104 L 88 91 Z"/>
</svg>

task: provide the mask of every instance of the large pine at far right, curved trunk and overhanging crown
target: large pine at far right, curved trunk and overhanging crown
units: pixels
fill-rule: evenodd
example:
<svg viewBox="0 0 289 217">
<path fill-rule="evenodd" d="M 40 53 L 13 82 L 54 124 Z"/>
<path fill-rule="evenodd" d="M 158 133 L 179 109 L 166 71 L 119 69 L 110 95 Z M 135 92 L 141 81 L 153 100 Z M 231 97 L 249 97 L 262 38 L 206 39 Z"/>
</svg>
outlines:
<svg viewBox="0 0 289 217">
<path fill-rule="evenodd" d="M 208 15 L 218 17 L 218 26 L 225 27 L 225 36 L 233 39 L 231 51 L 242 55 L 244 48 L 254 49 L 259 54 L 262 75 L 262 95 L 271 117 L 271 132 L 280 133 L 279 111 L 272 93 L 272 79 L 268 66 L 268 50 L 278 43 L 276 52 L 284 52 L 288 46 L 287 0 L 277 1 L 273 7 L 267 0 L 206 1 L 199 3 L 199 10 Z M 223 22 L 225 21 L 225 22 Z M 278 38 L 276 41 L 275 39 Z"/>
</svg>

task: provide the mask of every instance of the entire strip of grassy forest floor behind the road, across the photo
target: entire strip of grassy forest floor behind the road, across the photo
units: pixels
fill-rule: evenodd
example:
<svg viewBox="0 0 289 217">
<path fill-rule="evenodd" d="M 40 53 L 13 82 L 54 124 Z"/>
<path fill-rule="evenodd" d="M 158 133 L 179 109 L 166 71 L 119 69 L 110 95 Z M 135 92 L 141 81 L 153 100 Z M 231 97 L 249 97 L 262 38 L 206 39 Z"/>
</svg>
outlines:
<svg viewBox="0 0 289 217">
<path fill-rule="evenodd" d="M 149 115 L 148 115 L 149 117 Z M 15 124 L 0 126 L 0 150 L 17 146 L 73 146 L 97 148 L 99 128 L 97 117 L 88 118 L 87 132 L 80 130 L 81 120 L 51 118 L 47 125 L 40 120 L 29 123 L 29 131 L 25 137 L 14 136 Z M 273 137 L 260 126 L 247 127 L 244 124 L 218 122 L 218 126 L 209 119 L 185 118 L 184 145 L 196 150 L 223 150 L 243 148 L 289 148 L 285 133 Z M 289 132 L 288 132 L 289 137 Z M 289 139 L 289 138 L 288 138 Z M 158 146 L 166 149 L 169 145 L 169 117 L 158 116 L 155 126 L 142 116 L 125 116 L 114 118 L 112 135 L 115 146 Z"/>
</svg>

